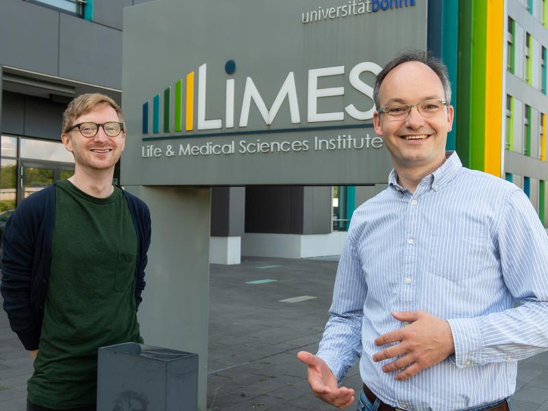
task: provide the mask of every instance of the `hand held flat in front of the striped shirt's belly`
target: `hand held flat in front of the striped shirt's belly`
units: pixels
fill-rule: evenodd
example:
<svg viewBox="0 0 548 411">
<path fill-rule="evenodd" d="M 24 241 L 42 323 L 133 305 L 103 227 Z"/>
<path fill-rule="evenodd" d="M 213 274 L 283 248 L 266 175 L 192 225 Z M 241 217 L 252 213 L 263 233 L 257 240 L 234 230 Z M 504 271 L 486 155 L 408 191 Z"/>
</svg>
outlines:
<svg viewBox="0 0 548 411">
<path fill-rule="evenodd" d="M 376 353 L 373 361 L 401 356 L 382 366 L 385 373 L 400 370 L 395 379 L 408 379 L 455 352 L 451 326 L 447 321 L 424 311 L 393 312 L 392 315 L 407 325 L 375 339 L 377 347 L 390 343 L 399 344 Z"/>
</svg>

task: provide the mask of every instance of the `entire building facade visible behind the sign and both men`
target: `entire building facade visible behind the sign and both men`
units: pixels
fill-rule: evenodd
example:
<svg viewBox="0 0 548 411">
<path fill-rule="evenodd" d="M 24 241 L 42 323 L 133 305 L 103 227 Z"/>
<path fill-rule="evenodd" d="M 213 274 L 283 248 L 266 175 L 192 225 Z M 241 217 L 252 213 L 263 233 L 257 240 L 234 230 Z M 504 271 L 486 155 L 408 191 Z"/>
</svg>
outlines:
<svg viewBox="0 0 548 411">
<path fill-rule="evenodd" d="M 426 1 L 406 1 L 406 7 Z M 9 34 L 0 37 L 4 216 L 32 192 L 73 172 L 72 156 L 60 143 L 68 101 L 103 92 L 123 102 L 123 8 L 145 2 L 0 2 L 0 24 Z M 447 149 L 456 149 L 465 166 L 522 188 L 545 226 L 547 2 L 428 1 L 424 22 L 427 47 L 447 64 L 453 85 L 456 120 Z M 379 7 L 392 3 L 397 2 Z M 380 37 L 389 36 L 387 30 Z M 385 187 L 214 187 L 211 261 L 338 254 L 353 210 Z"/>
</svg>

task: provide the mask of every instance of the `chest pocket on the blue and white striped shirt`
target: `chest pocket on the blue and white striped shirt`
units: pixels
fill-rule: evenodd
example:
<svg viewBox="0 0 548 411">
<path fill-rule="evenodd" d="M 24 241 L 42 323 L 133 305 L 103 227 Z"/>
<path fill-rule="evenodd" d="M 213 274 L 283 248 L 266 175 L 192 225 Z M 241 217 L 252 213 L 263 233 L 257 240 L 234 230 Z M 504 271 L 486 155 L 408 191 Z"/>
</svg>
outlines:
<svg viewBox="0 0 548 411">
<path fill-rule="evenodd" d="M 453 282 L 484 273 L 493 260 L 486 229 L 479 225 L 438 226 L 427 242 L 430 273 Z"/>
</svg>

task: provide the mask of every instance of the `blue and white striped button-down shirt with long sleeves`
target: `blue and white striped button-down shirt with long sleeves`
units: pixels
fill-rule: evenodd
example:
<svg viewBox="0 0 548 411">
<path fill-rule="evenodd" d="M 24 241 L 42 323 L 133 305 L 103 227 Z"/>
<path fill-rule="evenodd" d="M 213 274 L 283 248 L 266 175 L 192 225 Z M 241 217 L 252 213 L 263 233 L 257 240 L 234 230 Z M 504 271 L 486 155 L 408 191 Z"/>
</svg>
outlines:
<svg viewBox="0 0 548 411">
<path fill-rule="evenodd" d="M 449 155 L 450 154 L 450 155 Z M 318 356 L 413 411 L 454 411 L 514 393 L 517 360 L 548 349 L 548 236 L 509 182 L 448 153 L 416 192 L 390 185 L 353 214 Z M 518 305 L 516 307 L 516 304 Z M 392 311 L 447 319 L 456 353 L 405 381 L 375 363 Z"/>
</svg>

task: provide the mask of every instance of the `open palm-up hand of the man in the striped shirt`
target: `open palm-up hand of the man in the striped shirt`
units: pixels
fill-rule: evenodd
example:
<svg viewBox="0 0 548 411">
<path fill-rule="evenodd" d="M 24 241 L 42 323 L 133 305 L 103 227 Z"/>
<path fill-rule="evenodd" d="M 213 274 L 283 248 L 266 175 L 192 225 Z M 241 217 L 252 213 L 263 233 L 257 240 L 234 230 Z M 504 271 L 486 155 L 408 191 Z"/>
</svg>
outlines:
<svg viewBox="0 0 548 411">
<path fill-rule="evenodd" d="M 316 397 L 337 408 L 352 405 L 354 390 L 338 387 L 335 375 L 324 360 L 307 351 L 299 351 L 297 358 L 308 366 L 308 384 Z"/>
</svg>

